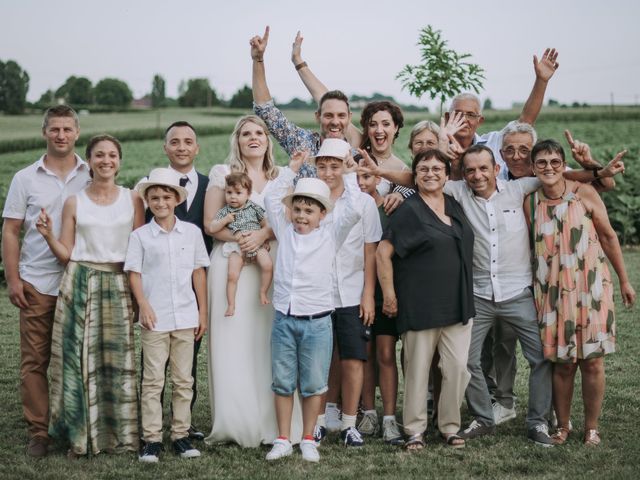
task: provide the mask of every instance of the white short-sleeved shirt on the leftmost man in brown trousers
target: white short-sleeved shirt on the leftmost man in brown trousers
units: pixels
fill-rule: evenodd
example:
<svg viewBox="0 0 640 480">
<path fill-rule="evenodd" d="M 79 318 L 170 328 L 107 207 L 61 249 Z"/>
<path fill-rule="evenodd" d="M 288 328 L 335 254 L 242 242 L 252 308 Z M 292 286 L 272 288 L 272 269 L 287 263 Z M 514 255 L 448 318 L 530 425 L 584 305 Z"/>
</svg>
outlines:
<svg viewBox="0 0 640 480">
<path fill-rule="evenodd" d="M 64 266 L 51 253 L 44 237 L 36 228 L 40 209 L 53 220 L 53 234 L 60 237 L 62 207 L 65 200 L 85 188 L 91 178 L 88 165 L 76 155 L 76 166 L 67 178 L 60 180 L 40 159 L 23 168 L 11 180 L 4 203 L 4 218 L 23 220 L 24 238 L 20 249 L 20 278 L 40 293 L 58 295 Z"/>
</svg>

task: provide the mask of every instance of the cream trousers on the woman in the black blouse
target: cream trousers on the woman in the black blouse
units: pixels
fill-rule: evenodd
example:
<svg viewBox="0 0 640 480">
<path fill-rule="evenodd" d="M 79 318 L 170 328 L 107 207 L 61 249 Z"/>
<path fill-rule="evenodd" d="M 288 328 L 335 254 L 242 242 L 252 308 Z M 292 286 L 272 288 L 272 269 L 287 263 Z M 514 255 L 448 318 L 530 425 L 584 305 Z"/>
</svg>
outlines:
<svg viewBox="0 0 640 480">
<path fill-rule="evenodd" d="M 460 430 L 460 406 L 469 383 L 467 357 L 473 320 L 466 325 L 408 331 L 402 334 L 404 345 L 404 413 L 402 423 L 407 435 L 424 433 L 429 421 L 427 391 L 433 354 L 438 349 L 442 371 L 442 389 L 438 401 L 438 429 L 445 434 Z"/>
</svg>

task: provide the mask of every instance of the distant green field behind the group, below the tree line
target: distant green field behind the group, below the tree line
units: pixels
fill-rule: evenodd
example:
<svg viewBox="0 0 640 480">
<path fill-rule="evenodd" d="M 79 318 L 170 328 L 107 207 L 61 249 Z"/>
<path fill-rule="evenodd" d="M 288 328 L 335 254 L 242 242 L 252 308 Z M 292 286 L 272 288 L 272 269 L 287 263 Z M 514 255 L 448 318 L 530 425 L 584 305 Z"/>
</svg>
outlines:
<svg viewBox="0 0 640 480">
<path fill-rule="evenodd" d="M 635 112 L 635 110 L 633 110 Z M 80 119 L 81 131 L 83 133 L 113 133 L 116 137 L 119 131 L 130 129 L 156 128 L 163 130 L 166 125 L 179 119 L 193 122 L 196 126 L 222 125 L 228 128 L 229 133 L 237 120 L 243 113 L 241 111 L 225 111 L 220 115 L 218 111 L 207 111 L 204 109 L 167 109 L 160 113 L 160 121 L 153 111 L 142 111 L 136 113 L 115 113 L 115 114 L 95 114 L 83 116 Z M 562 113 L 562 112 L 561 112 Z M 543 113 L 541 119 L 536 124 L 539 138 L 555 138 L 561 140 L 566 146 L 563 132 L 570 128 L 574 137 L 591 144 L 595 158 L 599 160 L 609 160 L 613 154 L 623 148 L 629 150 L 626 161 L 631 168 L 637 167 L 637 160 L 640 156 L 640 121 L 623 117 L 614 119 L 602 116 L 598 121 L 592 118 L 593 112 L 578 112 L 575 116 L 568 113 L 570 120 L 558 118 L 558 112 Z M 638 110 L 640 113 L 640 110 Z M 505 123 L 512 118 L 516 118 L 517 112 L 496 112 L 487 114 L 487 120 L 480 127 L 480 132 L 498 130 L 504 127 Z M 545 119 L 545 115 L 549 119 Z M 313 113 L 308 111 L 290 111 L 287 116 L 292 121 L 307 125 L 313 124 Z M 358 114 L 354 114 L 354 123 L 357 123 Z M 409 132 L 413 125 L 424 118 L 423 115 L 411 113 L 406 116 L 405 127 L 400 131 L 400 136 L 396 140 L 394 149 L 396 155 L 405 162 L 410 162 L 410 154 L 407 148 Z M 433 116 L 430 116 L 433 118 Z M 0 116 L 0 141 L 12 138 L 34 138 L 40 133 L 41 117 L 29 115 L 23 117 Z M 228 134 L 201 136 L 199 138 L 200 155 L 197 159 L 197 168 L 208 173 L 215 163 L 224 161 L 229 151 Z M 11 152 L 0 154 L 0 198 L 4 199 L 6 188 L 13 174 L 20 168 L 35 161 L 42 155 L 42 148 L 23 152 Z M 129 141 L 123 143 L 123 166 L 120 181 L 125 185 L 133 185 L 141 176 L 159 165 L 166 164 L 166 157 L 162 151 L 162 142 L 158 140 Z M 84 145 L 78 145 L 77 151 L 83 155 Z M 275 146 L 274 152 L 279 163 L 286 161 L 285 154 L 279 146 Z"/>
</svg>

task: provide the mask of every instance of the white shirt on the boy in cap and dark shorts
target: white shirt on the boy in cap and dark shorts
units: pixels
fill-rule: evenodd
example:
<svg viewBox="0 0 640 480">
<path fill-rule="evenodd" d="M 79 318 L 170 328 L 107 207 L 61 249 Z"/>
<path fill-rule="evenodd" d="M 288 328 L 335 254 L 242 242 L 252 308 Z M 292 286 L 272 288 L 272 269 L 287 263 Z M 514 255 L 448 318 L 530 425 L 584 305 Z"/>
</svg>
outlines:
<svg viewBox="0 0 640 480">
<path fill-rule="evenodd" d="M 357 187 L 355 173 L 344 176 L 345 191 L 336 200 L 335 208 L 324 219 L 324 223 L 333 222 L 335 215 L 343 215 L 348 203 L 347 184 L 354 190 L 353 205 L 360 214 L 347 240 L 342 244 L 336 256 L 333 272 L 333 302 L 335 308 L 360 305 L 364 289 L 364 245 L 377 243 L 382 237 L 382 225 L 376 201 L 371 195 L 363 193 Z"/>
</svg>

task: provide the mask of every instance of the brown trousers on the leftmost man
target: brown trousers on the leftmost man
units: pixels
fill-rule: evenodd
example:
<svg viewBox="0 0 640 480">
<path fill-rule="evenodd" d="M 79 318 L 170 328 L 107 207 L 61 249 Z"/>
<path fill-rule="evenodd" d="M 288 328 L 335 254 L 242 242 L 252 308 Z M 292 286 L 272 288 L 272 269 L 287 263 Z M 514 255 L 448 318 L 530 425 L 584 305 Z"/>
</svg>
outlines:
<svg viewBox="0 0 640 480">
<path fill-rule="evenodd" d="M 24 284 L 29 303 L 20 309 L 20 395 L 22 410 L 31 437 L 48 437 L 51 334 L 58 297 L 44 295 L 33 285 Z"/>
</svg>

